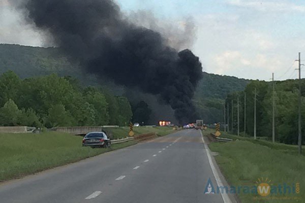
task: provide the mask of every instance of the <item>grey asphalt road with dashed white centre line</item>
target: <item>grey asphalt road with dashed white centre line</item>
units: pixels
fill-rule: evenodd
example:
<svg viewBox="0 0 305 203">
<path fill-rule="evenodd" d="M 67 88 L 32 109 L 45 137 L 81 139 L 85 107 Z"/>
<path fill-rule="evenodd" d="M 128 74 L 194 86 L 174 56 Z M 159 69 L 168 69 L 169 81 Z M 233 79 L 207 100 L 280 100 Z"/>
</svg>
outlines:
<svg viewBox="0 0 305 203">
<path fill-rule="evenodd" d="M 181 130 L 128 148 L 0 185 L 0 201 L 224 202 L 204 194 L 216 184 L 199 130 Z"/>
</svg>

